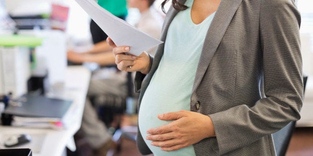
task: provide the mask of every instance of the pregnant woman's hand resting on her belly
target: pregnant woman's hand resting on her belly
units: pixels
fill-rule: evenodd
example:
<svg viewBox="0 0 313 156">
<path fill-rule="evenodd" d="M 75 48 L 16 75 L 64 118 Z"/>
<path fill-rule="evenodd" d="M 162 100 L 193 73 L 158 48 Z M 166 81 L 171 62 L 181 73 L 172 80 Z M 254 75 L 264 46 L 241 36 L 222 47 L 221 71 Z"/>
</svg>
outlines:
<svg viewBox="0 0 313 156">
<path fill-rule="evenodd" d="M 207 115 L 181 110 L 160 114 L 157 118 L 174 120 L 147 131 L 150 135 L 146 139 L 152 141 L 151 145 L 161 147 L 163 151 L 176 151 L 215 136 L 213 122 Z"/>
</svg>

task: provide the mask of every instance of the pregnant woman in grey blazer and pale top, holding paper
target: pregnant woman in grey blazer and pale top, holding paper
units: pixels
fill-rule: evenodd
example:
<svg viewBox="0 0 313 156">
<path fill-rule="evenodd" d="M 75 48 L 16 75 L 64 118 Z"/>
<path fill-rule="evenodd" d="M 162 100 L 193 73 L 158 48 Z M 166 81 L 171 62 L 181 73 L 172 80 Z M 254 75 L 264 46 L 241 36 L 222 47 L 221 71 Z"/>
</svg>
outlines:
<svg viewBox="0 0 313 156">
<path fill-rule="evenodd" d="M 276 156 L 303 103 L 300 23 L 294 0 L 172 0 L 155 57 L 107 38 L 137 71 L 140 152 Z"/>
</svg>

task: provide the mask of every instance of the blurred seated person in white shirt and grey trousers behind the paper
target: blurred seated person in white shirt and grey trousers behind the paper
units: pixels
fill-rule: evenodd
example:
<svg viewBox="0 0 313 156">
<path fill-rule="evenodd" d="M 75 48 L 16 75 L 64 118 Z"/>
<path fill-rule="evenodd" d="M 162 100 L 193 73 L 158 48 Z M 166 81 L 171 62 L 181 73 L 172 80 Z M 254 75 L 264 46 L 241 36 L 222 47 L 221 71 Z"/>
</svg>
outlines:
<svg viewBox="0 0 313 156">
<path fill-rule="evenodd" d="M 129 7 L 136 7 L 141 12 L 141 18 L 136 27 L 158 39 L 161 33 L 163 18 L 151 7 L 154 1 L 155 0 L 128 0 L 127 2 Z M 92 36 L 96 35 L 97 34 L 92 34 Z M 105 35 L 103 36 L 106 37 Z M 97 38 L 100 37 L 98 36 Z M 93 37 L 94 42 L 100 40 L 97 38 Z M 156 48 L 152 48 L 147 52 L 154 55 L 155 50 Z M 112 48 L 106 42 L 102 41 L 96 43 L 91 50 L 83 53 L 69 51 L 67 58 L 69 61 L 75 63 L 96 62 L 100 66 L 115 65 L 115 57 L 112 54 Z M 106 126 L 98 119 L 97 112 L 91 104 L 89 97 L 104 94 L 127 96 L 126 73 L 112 72 L 112 68 L 110 71 L 110 74 L 106 75 L 106 78 L 98 77 L 91 79 L 80 130 L 91 147 L 97 149 L 95 151 L 98 156 L 105 156 L 106 152 L 112 148 L 111 145 L 114 143 L 111 141 L 111 135 L 108 133 Z"/>
</svg>

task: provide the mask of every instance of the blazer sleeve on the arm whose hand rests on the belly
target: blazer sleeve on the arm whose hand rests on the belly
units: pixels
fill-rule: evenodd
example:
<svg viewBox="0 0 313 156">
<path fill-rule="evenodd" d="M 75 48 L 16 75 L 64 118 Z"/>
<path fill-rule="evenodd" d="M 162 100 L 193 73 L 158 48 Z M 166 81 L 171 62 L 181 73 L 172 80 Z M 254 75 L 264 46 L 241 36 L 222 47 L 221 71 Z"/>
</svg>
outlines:
<svg viewBox="0 0 313 156">
<path fill-rule="evenodd" d="M 259 20 L 266 97 L 252 107 L 238 105 L 209 114 L 220 155 L 252 144 L 300 119 L 300 13 L 292 0 L 262 0 Z"/>
</svg>

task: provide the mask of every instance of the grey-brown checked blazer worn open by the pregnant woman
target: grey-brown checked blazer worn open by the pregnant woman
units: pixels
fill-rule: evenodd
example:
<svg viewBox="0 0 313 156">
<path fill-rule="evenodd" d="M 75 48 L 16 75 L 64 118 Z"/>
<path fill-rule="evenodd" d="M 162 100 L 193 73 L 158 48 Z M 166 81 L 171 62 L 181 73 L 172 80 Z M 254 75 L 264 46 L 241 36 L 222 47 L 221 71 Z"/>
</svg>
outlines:
<svg viewBox="0 0 313 156">
<path fill-rule="evenodd" d="M 177 12 L 170 8 L 166 14 L 164 42 Z M 197 156 L 276 155 L 271 134 L 299 120 L 303 102 L 300 18 L 292 0 L 221 1 L 205 37 L 190 101 L 191 111 L 211 117 L 216 137 L 194 144 Z M 163 49 L 159 45 L 151 58 L 148 75 L 137 73 L 139 104 Z M 140 133 L 137 143 L 142 154 L 151 153 Z"/>
</svg>

